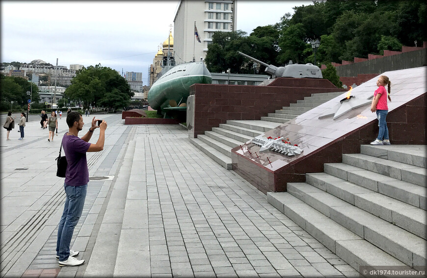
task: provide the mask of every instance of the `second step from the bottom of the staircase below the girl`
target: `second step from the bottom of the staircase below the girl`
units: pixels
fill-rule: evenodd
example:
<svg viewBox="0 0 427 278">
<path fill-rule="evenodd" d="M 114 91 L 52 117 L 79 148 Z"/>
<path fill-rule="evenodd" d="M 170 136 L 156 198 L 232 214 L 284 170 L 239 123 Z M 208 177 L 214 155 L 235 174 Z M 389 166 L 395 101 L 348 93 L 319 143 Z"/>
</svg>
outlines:
<svg viewBox="0 0 427 278">
<path fill-rule="evenodd" d="M 426 240 L 308 183 L 288 183 L 287 190 L 401 262 L 411 267 L 425 265 Z"/>
</svg>

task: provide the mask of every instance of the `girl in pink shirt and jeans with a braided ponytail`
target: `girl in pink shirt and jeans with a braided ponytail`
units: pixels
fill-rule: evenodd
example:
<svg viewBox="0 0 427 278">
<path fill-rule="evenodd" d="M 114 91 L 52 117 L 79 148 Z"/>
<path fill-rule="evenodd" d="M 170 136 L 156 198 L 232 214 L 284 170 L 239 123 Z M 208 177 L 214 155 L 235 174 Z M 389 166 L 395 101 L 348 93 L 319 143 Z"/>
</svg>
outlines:
<svg viewBox="0 0 427 278">
<path fill-rule="evenodd" d="M 385 90 L 385 85 L 388 87 L 388 99 L 390 98 L 390 85 L 391 82 L 387 76 L 379 76 L 376 85 L 378 89 L 374 92 L 374 99 L 371 104 L 371 112 L 376 112 L 376 118 L 378 119 L 378 137 L 374 142 L 371 142 L 371 145 L 390 145 L 390 138 L 388 134 L 387 123 L 385 121 L 388 114 L 387 106 L 387 91 Z"/>
</svg>

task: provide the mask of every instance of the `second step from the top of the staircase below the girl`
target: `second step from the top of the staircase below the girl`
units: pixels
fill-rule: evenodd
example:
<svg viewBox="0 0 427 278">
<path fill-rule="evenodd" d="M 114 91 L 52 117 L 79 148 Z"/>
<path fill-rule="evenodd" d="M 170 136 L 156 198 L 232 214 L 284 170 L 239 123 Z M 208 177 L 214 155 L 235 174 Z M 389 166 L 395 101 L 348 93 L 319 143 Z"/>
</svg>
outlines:
<svg viewBox="0 0 427 278">
<path fill-rule="evenodd" d="M 422 167 L 362 153 L 343 154 L 343 163 L 409 183 L 427 186 L 426 169 Z"/>
</svg>

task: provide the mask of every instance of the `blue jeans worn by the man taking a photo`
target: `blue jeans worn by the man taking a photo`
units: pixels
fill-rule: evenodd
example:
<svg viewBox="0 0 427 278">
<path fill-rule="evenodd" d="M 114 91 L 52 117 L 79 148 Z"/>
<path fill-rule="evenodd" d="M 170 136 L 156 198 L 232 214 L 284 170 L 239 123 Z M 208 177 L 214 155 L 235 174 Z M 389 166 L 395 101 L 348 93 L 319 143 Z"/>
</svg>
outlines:
<svg viewBox="0 0 427 278">
<path fill-rule="evenodd" d="M 58 227 L 58 239 L 56 241 L 56 255 L 59 261 L 66 261 L 70 255 L 70 243 L 73 237 L 74 227 L 79 222 L 86 199 L 87 184 L 71 186 L 64 183 L 66 194 L 64 212 Z"/>
</svg>

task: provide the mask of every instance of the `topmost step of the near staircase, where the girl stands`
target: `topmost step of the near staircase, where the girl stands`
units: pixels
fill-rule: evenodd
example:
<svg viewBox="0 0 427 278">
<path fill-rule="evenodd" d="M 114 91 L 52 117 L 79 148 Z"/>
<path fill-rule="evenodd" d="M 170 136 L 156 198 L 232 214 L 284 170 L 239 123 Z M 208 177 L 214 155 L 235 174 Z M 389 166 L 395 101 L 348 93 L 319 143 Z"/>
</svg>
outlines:
<svg viewBox="0 0 427 278">
<path fill-rule="evenodd" d="M 360 153 L 427 168 L 426 145 L 361 145 Z"/>
</svg>

